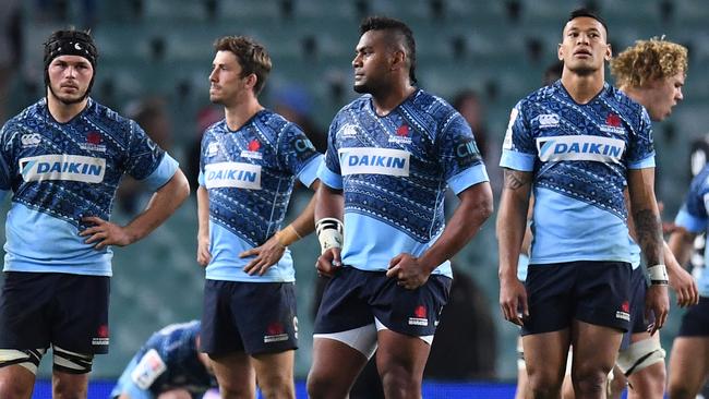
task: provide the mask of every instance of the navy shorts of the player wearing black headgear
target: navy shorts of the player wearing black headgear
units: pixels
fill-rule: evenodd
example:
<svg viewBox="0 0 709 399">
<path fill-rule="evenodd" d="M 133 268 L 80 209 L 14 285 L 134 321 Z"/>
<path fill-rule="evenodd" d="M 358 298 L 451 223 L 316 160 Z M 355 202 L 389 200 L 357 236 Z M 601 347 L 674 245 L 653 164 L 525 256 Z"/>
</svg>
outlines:
<svg viewBox="0 0 709 399">
<path fill-rule="evenodd" d="M 0 294 L 0 349 L 108 353 L 110 278 L 7 271 Z"/>
</svg>

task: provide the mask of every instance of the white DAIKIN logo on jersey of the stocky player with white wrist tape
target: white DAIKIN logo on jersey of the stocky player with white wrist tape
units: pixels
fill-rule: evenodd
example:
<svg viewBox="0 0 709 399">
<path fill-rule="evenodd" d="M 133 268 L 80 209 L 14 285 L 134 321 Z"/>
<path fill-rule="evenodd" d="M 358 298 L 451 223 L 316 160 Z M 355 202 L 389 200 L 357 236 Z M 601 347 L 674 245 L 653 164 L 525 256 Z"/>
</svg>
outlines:
<svg viewBox="0 0 709 399">
<path fill-rule="evenodd" d="M 409 176 L 411 153 L 392 148 L 340 148 L 338 150 L 343 176 L 388 174 Z"/>
</svg>

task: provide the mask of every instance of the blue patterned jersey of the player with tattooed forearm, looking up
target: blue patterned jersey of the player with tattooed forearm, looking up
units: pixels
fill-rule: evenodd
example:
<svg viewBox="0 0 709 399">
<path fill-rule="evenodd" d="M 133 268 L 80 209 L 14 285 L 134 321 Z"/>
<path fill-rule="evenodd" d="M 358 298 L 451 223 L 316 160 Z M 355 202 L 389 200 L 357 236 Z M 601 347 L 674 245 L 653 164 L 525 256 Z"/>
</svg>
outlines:
<svg viewBox="0 0 709 399">
<path fill-rule="evenodd" d="M 513 109 L 500 165 L 533 172 L 531 264 L 632 261 L 627 170 L 654 167 L 639 104 L 608 84 L 585 105 L 542 87 Z"/>
</svg>

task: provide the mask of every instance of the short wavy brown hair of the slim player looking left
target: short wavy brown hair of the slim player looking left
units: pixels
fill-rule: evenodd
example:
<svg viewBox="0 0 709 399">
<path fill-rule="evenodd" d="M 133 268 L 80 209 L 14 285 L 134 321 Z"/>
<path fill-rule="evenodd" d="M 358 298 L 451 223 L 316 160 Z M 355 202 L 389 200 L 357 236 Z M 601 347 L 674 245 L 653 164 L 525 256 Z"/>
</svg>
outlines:
<svg viewBox="0 0 709 399">
<path fill-rule="evenodd" d="M 261 93 L 272 68 L 271 56 L 261 44 L 247 36 L 225 36 L 215 41 L 214 49 L 231 51 L 237 56 L 241 65 L 241 77 L 255 74 L 256 84 L 253 86 L 253 93 L 255 95 Z"/>
</svg>

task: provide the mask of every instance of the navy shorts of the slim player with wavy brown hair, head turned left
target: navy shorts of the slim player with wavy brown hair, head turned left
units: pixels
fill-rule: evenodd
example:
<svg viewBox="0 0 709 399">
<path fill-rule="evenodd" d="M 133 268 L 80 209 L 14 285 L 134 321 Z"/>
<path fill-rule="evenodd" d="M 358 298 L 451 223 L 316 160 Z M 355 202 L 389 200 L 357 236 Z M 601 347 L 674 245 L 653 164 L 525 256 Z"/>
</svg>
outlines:
<svg viewBox="0 0 709 399">
<path fill-rule="evenodd" d="M 219 355 L 298 349 L 295 286 L 205 280 L 202 351 Z"/>
</svg>

